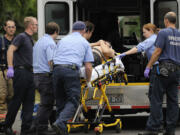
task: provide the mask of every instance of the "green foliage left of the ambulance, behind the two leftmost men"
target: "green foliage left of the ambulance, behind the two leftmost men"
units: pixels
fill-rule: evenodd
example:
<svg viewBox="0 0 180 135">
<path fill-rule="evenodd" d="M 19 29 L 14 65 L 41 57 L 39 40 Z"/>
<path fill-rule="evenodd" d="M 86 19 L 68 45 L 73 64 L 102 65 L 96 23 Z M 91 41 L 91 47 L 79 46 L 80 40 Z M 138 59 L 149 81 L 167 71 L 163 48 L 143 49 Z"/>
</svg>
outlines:
<svg viewBox="0 0 180 135">
<path fill-rule="evenodd" d="M 0 0 L 0 26 L 8 19 L 16 22 L 17 32 L 22 32 L 23 20 L 26 16 L 37 16 L 37 0 Z"/>
</svg>

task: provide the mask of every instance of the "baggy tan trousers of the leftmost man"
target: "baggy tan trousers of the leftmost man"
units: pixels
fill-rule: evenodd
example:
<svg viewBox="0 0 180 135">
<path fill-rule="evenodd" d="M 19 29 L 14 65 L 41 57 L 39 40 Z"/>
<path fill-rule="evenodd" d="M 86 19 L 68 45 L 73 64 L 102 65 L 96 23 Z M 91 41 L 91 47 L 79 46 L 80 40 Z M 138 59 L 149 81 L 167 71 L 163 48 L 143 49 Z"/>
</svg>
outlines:
<svg viewBox="0 0 180 135">
<path fill-rule="evenodd" d="M 7 70 L 4 71 L 5 77 Z M 12 79 L 4 79 L 3 72 L 0 71 L 0 122 L 5 120 L 7 104 L 13 96 Z"/>
</svg>

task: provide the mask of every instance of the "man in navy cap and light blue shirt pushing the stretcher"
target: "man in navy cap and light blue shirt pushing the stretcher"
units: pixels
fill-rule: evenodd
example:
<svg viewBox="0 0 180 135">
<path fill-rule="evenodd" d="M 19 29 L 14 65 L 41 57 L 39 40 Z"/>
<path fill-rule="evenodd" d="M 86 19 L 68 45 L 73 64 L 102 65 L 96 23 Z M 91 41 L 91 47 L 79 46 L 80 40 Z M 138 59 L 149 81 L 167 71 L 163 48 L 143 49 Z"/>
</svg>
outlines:
<svg viewBox="0 0 180 135">
<path fill-rule="evenodd" d="M 82 36 L 85 24 L 77 21 L 73 24 L 73 33 L 58 42 L 53 58 L 53 86 L 55 89 L 58 118 L 52 125 L 58 135 L 67 135 L 66 122 L 73 117 L 80 98 L 79 68 L 85 64 L 87 84 L 91 79 L 94 61 L 90 44 Z"/>
</svg>

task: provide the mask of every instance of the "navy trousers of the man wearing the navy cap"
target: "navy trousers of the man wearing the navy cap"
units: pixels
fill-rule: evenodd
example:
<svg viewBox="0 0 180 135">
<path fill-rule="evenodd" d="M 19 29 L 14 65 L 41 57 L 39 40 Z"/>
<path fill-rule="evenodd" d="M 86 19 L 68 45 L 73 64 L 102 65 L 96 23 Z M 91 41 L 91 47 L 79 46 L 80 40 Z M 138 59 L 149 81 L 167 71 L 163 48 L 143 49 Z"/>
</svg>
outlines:
<svg viewBox="0 0 180 135">
<path fill-rule="evenodd" d="M 66 122 L 73 117 L 79 104 L 81 91 L 79 71 L 55 67 L 53 85 L 57 106 L 56 124 L 63 130 L 67 130 Z"/>
</svg>

